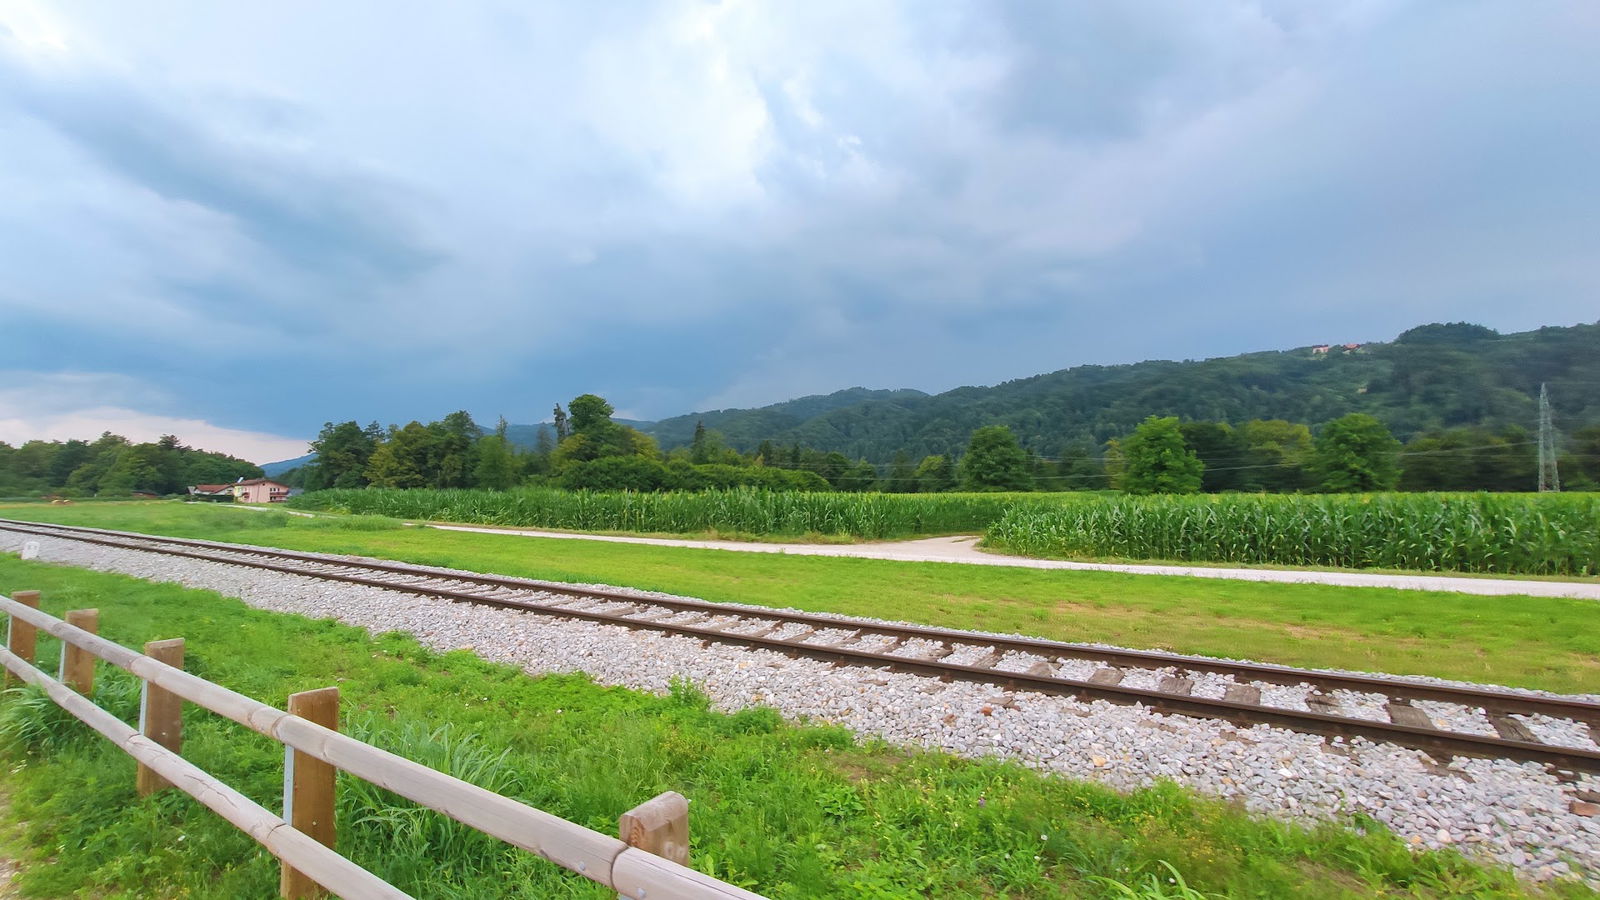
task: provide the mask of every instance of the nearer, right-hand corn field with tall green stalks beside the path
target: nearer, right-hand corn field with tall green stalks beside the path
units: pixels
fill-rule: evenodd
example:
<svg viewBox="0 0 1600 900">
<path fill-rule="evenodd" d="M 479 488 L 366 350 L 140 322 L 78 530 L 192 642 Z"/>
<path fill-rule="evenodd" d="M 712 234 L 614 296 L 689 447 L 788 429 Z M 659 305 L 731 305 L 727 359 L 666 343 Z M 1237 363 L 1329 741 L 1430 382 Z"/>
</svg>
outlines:
<svg viewBox="0 0 1600 900">
<path fill-rule="evenodd" d="M 989 543 L 1080 559 L 1597 575 L 1600 495 L 1101 496 L 1008 509 Z"/>
</svg>

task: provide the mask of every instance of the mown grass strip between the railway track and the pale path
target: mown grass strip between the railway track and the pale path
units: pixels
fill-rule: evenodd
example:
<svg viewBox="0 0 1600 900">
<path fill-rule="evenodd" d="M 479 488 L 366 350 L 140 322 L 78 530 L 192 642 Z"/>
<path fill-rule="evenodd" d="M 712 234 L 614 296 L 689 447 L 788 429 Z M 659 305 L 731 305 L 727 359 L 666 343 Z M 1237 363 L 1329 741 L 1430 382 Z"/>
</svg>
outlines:
<svg viewBox="0 0 1600 900">
<path fill-rule="evenodd" d="M 355 552 L 1299 666 L 1600 692 L 1600 604 L 1384 588 L 800 557 L 402 528 L 179 503 L 0 508 L 37 519 Z"/>
</svg>

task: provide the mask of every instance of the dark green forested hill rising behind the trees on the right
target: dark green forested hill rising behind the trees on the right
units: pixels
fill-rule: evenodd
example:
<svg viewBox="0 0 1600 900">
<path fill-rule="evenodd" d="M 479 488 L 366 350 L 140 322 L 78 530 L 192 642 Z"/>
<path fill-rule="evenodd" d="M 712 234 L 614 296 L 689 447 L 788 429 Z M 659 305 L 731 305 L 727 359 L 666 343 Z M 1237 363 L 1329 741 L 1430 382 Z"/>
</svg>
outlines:
<svg viewBox="0 0 1600 900">
<path fill-rule="evenodd" d="M 1557 426 L 1600 423 L 1600 323 L 1501 335 L 1478 325 L 1422 325 L 1390 343 L 1326 352 L 1253 352 L 1198 362 L 1080 365 L 992 388 L 854 388 L 755 410 L 717 410 L 643 424 L 662 448 L 688 444 L 694 423 L 749 452 L 762 440 L 838 450 L 877 463 L 955 453 L 973 431 L 1008 424 L 1022 445 L 1056 455 L 1099 447 L 1149 415 L 1243 423 L 1282 418 L 1317 426 L 1352 412 L 1382 420 L 1402 440 L 1434 428 L 1538 424 L 1549 383 Z"/>
</svg>

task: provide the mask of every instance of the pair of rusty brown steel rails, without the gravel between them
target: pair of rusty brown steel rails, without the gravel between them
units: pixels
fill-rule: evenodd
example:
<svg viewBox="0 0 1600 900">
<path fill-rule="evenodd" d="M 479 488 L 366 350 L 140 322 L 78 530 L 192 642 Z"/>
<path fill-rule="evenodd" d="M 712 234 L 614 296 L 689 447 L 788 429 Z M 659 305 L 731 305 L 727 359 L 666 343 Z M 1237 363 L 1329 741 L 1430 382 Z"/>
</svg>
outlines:
<svg viewBox="0 0 1600 900">
<path fill-rule="evenodd" d="M 934 641 L 941 641 L 941 642 L 946 642 L 946 644 L 949 644 L 952 641 L 954 642 L 963 642 L 963 644 L 974 644 L 974 645 L 989 645 L 989 647 L 1002 647 L 1002 645 L 1019 644 L 1019 645 L 1026 645 L 1029 649 L 1029 652 L 1048 650 L 1051 653 L 1064 655 L 1064 657 L 1078 655 L 1077 650 L 1080 650 L 1080 645 L 1075 645 L 1075 644 L 1056 644 L 1056 642 L 1050 642 L 1050 641 L 1010 639 L 1010 637 L 1008 639 L 997 639 L 997 637 L 984 636 L 981 633 L 944 631 L 944 629 L 923 628 L 923 626 L 878 626 L 875 623 L 858 623 L 858 621 L 851 621 L 851 620 L 840 620 L 840 618 L 821 617 L 821 615 L 816 615 L 816 613 L 800 613 L 800 615 L 797 615 L 797 613 L 776 613 L 776 612 L 774 613 L 768 613 L 768 612 L 757 610 L 757 609 L 728 607 L 725 604 L 710 604 L 710 602 L 706 602 L 706 601 L 693 601 L 693 602 L 690 602 L 690 601 L 664 601 L 664 599 L 658 599 L 658 597 L 640 597 L 640 596 L 635 596 L 635 594 L 622 594 L 622 593 L 613 593 L 613 591 L 590 591 L 590 589 L 584 589 L 584 588 L 574 588 L 574 586 L 570 586 L 570 585 L 550 585 L 550 583 L 546 583 L 546 581 L 517 580 L 517 578 L 499 578 L 499 577 L 458 575 L 458 573 L 453 573 L 453 572 L 430 572 L 427 569 L 419 569 L 419 567 L 392 565 L 392 564 L 368 564 L 368 562 L 346 560 L 346 559 L 336 559 L 336 557 L 328 557 L 328 556 L 302 554 L 302 552 L 293 552 L 293 551 L 261 549 L 261 548 L 250 548 L 250 546 L 240 546 L 240 544 L 222 544 L 222 543 L 216 543 L 216 541 L 192 541 L 192 540 L 182 540 L 182 538 L 163 538 L 163 536 L 141 535 L 141 533 L 133 533 L 133 532 L 112 532 L 112 530 L 107 530 L 107 528 L 80 528 L 80 527 L 72 527 L 72 525 L 42 525 L 42 524 L 35 524 L 35 522 L 18 522 L 18 520 L 11 520 L 11 519 L 0 519 L 0 528 L 13 530 L 13 532 L 21 532 L 21 533 L 34 533 L 34 535 L 38 535 L 38 536 L 56 536 L 56 538 L 61 538 L 64 535 L 53 533 L 53 532 L 69 532 L 66 535 L 66 540 L 74 540 L 74 541 L 82 541 L 82 543 L 91 543 L 91 544 L 101 544 L 101 546 L 112 546 L 112 548 L 120 548 L 120 549 L 134 549 L 134 551 L 142 551 L 142 552 L 158 552 L 158 554 L 165 554 L 165 556 L 178 556 L 178 557 L 186 557 L 186 559 L 197 559 L 197 560 L 203 560 L 203 562 L 221 562 L 221 564 L 226 564 L 226 565 L 245 565 L 245 567 L 262 569 L 262 570 L 269 570 L 269 572 L 282 572 L 282 573 L 286 573 L 286 575 L 301 575 L 301 577 L 307 577 L 307 578 L 322 578 L 322 580 L 330 580 L 330 581 L 341 581 L 341 583 L 349 583 L 349 585 L 362 585 L 362 586 L 379 588 L 379 589 L 387 589 L 387 591 L 403 591 L 403 593 L 411 593 L 411 594 L 424 594 L 424 596 L 448 599 L 448 601 L 453 601 L 453 602 L 493 605 L 493 607 L 501 607 L 501 609 L 512 609 L 512 610 L 530 612 L 530 613 L 538 613 L 538 615 L 549 615 L 549 617 L 558 617 L 558 618 L 578 618 L 578 620 L 597 621 L 597 623 L 605 623 L 605 625 L 619 625 L 619 626 L 624 626 L 624 628 L 648 628 L 648 629 L 653 629 L 653 631 L 662 631 L 662 633 L 669 633 L 669 634 L 682 634 L 682 636 L 688 636 L 688 637 L 698 637 L 701 641 L 717 641 L 717 642 L 726 642 L 726 644 L 741 644 L 741 645 L 747 645 L 747 647 L 760 647 L 760 649 L 776 650 L 776 652 L 781 652 L 781 653 L 786 653 L 786 655 L 805 655 L 805 657 L 811 657 L 811 658 L 818 658 L 818 660 L 824 660 L 824 661 L 842 663 L 842 665 L 862 665 L 862 666 L 870 666 L 870 668 L 886 668 L 886 669 L 893 669 L 893 671 L 906 671 L 906 673 L 915 673 L 915 674 L 925 674 L 925 676 L 934 676 L 934 677 L 944 677 L 944 679 L 960 679 L 960 681 L 974 681 L 974 682 L 984 682 L 984 684 L 997 684 L 997 685 L 1003 685 L 1003 687 L 1011 689 L 1011 690 L 1034 690 L 1034 692 L 1042 692 L 1042 693 L 1072 695 L 1072 697 L 1083 697 L 1083 698 L 1090 698 L 1090 700 L 1106 700 L 1106 701 L 1122 703 L 1122 705 L 1133 703 L 1133 705 L 1147 706 L 1147 708 L 1150 708 L 1154 711 L 1158 711 L 1158 713 L 1198 716 L 1198 717 L 1208 717 L 1208 719 L 1226 719 L 1226 721 L 1230 721 L 1230 722 L 1242 722 L 1242 724 L 1251 724 L 1251 725 L 1258 725 L 1258 724 L 1261 724 L 1261 725 L 1274 725 L 1274 727 L 1282 727 L 1282 729 L 1296 730 L 1296 732 L 1302 732 L 1302 733 L 1315 733 L 1315 735 L 1323 735 L 1323 737 L 1365 738 L 1365 740 L 1373 740 L 1373 741 L 1381 741 L 1381 743 L 1397 743 L 1397 745 L 1402 745 L 1402 746 L 1408 746 L 1408 748 L 1414 748 L 1414 749 L 1422 749 L 1422 751 L 1429 751 L 1429 753 L 1435 753 L 1435 754 L 1442 754 L 1442 756 L 1458 756 L 1458 754 L 1461 754 L 1461 756 L 1480 756 L 1480 757 L 1491 757 L 1491 759 L 1514 759 L 1514 761 L 1526 761 L 1526 762 L 1547 764 L 1547 765 L 1554 765 L 1557 769 L 1566 769 L 1566 770 L 1574 770 L 1574 772 L 1600 772 L 1600 751 L 1590 751 L 1590 749 L 1582 749 L 1582 748 L 1546 745 L 1546 743 L 1539 743 L 1539 741 L 1525 741 L 1525 740 L 1514 740 L 1514 738 L 1504 738 L 1504 737 L 1474 735 L 1474 733 L 1464 733 L 1464 732 L 1445 732 L 1445 730 L 1434 730 L 1434 729 L 1426 729 L 1426 727 L 1413 727 L 1413 725 L 1400 725 L 1400 724 L 1392 724 L 1392 722 L 1379 722 L 1379 721 L 1373 721 L 1373 719 L 1357 719 L 1357 717 L 1349 717 L 1349 716 L 1333 716 L 1333 714 L 1326 714 L 1326 713 L 1283 709 L 1283 708 L 1275 708 L 1275 706 L 1258 706 L 1258 705 L 1253 705 L 1253 703 L 1238 703 L 1238 701 L 1230 701 L 1230 700 L 1211 700 L 1211 698 L 1203 698 L 1203 697 L 1190 697 L 1190 695 L 1182 695 L 1182 693 L 1168 693 L 1168 692 L 1162 692 L 1162 690 L 1147 690 L 1147 689 L 1125 687 L 1125 685 L 1117 685 L 1117 684 L 1098 684 L 1098 682 L 1077 681 L 1077 679 L 1064 679 L 1064 677 L 1043 676 L 1043 674 L 1010 673 L 1010 671 L 1000 671 L 1000 669 L 992 669 L 992 668 L 984 668 L 984 666 L 970 666 L 970 665 L 960 665 L 960 663 L 946 663 L 946 661 L 939 661 L 939 660 L 926 660 L 926 658 L 915 658 L 915 657 L 896 657 L 896 655 L 877 653 L 877 652 L 870 652 L 870 650 L 853 650 L 853 649 L 843 647 L 843 645 L 808 644 L 805 641 L 792 641 L 792 639 L 781 639 L 781 637 L 765 637 L 765 636 L 760 636 L 760 634 L 734 634 L 734 633 L 723 631 L 723 629 L 718 629 L 718 628 L 706 628 L 706 626 L 699 626 L 699 625 L 693 625 L 693 623 L 669 623 L 669 621 L 661 621 L 661 620 L 634 618 L 634 613 L 579 610 L 579 609 L 563 607 L 563 605 L 558 605 L 558 604 L 541 604 L 541 602 L 534 602 L 534 601 L 512 599 L 512 597 L 493 597 L 493 596 L 486 596 L 486 594 L 475 594 L 475 593 L 470 593 L 470 591 L 458 591 L 458 589 L 453 589 L 453 588 L 437 588 L 437 586 L 427 586 L 427 585 L 400 585 L 400 583 L 395 583 L 395 581 L 384 581 L 384 580 L 379 580 L 379 578 L 366 578 L 366 577 L 362 577 L 362 575 L 339 575 L 339 573 L 328 573 L 328 572 L 309 572 L 306 569 L 298 569 L 298 567 L 293 567 L 293 565 L 280 565 L 280 564 L 261 562 L 261 560 L 229 559 L 229 557 L 222 557 L 222 556 L 195 552 L 192 549 L 190 551 L 181 551 L 181 549 L 154 549 L 154 548 L 147 548 L 147 546 L 133 546 L 128 541 L 144 541 L 144 543 L 157 543 L 157 544 L 158 543 L 166 543 L 166 544 L 176 544 L 176 546 L 189 546 L 189 548 L 200 548 L 200 549 L 214 549 L 214 551 L 221 551 L 221 552 L 291 559 L 291 560 L 299 560 L 299 562 L 312 562 L 312 564 L 317 564 L 317 565 L 333 565 L 333 567 L 347 567 L 347 569 L 366 569 L 366 570 L 387 572 L 387 573 L 424 577 L 424 578 L 434 578 L 434 580 L 442 580 L 442 581 L 486 583 L 486 585 L 494 585 L 498 588 L 547 591 L 547 593 L 560 593 L 560 594 L 570 594 L 570 596 L 579 596 L 579 597 L 598 597 L 598 599 L 605 599 L 605 601 L 629 602 L 629 604 L 635 604 L 635 605 L 637 604 L 662 605 L 662 607 L 667 607 L 667 609 L 678 609 L 680 612 L 682 610 L 694 610 L 694 612 L 714 612 L 717 615 L 734 615 L 734 617 L 747 617 L 747 618 L 776 618 L 776 620 L 784 620 L 784 621 L 821 623 L 821 625 L 826 625 L 827 628 L 840 629 L 840 631 L 862 631 L 862 633 L 869 633 L 869 634 L 886 634 L 886 636 L 899 636 L 899 634 L 904 633 L 906 636 L 926 637 L 926 639 L 934 639 Z M 99 535 L 99 536 L 86 536 L 86 535 Z M 115 538 L 123 538 L 123 540 L 122 541 L 110 540 L 114 536 Z M 637 610 L 634 610 L 634 612 L 637 613 Z M 853 642 L 856 639 L 859 639 L 859 636 L 858 637 L 851 637 L 846 642 Z M 1090 649 L 1090 650 L 1102 650 L 1102 649 Z M 1155 653 L 1155 652 L 1130 652 L 1130 653 L 1133 655 L 1133 658 L 1160 661 L 1162 668 L 1168 668 L 1168 666 L 1195 668 L 1195 666 L 1189 665 L 1190 660 L 1195 660 L 1195 661 L 1210 661 L 1210 660 L 1203 660 L 1203 658 L 1178 657 L 1178 655 L 1166 655 L 1166 653 Z M 1149 665 L 1149 661 L 1141 663 L 1141 665 Z M 1291 668 L 1285 668 L 1285 666 L 1259 666 L 1259 668 L 1266 669 L 1266 671 L 1270 671 L 1270 673 L 1277 673 L 1280 676 L 1286 676 L 1286 674 L 1293 673 L 1296 676 L 1294 677 L 1294 684 L 1301 684 L 1301 682 L 1317 684 L 1318 677 L 1326 677 L 1323 673 L 1304 671 L 1304 669 L 1291 669 Z M 1240 673 L 1254 674 L 1258 671 L 1258 668 L 1251 666 L 1251 665 L 1226 663 L 1226 668 L 1222 671 L 1240 671 Z M 1584 716 L 1573 716 L 1571 713 L 1555 713 L 1557 717 L 1581 719 L 1581 721 L 1594 721 L 1594 716 L 1597 713 L 1600 713 L 1600 705 L 1589 703 L 1589 701 L 1579 701 L 1579 700 L 1557 700 L 1557 698 L 1546 698 L 1546 697 L 1523 697 L 1523 695 L 1515 695 L 1515 693 L 1502 693 L 1502 692 L 1491 692 L 1491 690 L 1482 690 L 1482 689 L 1466 689 L 1466 690 L 1456 692 L 1453 689 L 1416 685 L 1413 682 L 1392 682 L 1392 681 L 1387 681 L 1387 679 L 1370 677 L 1370 676 L 1334 676 L 1334 677 L 1336 677 L 1336 681 L 1347 681 L 1350 677 L 1357 677 L 1360 681 L 1360 684 L 1363 685 L 1360 690 L 1365 690 L 1368 693 L 1384 693 L 1384 695 L 1389 695 L 1389 697 L 1398 697 L 1398 695 L 1402 695 L 1400 692 L 1397 692 L 1394 689 L 1410 690 L 1410 689 L 1414 689 L 1414 687 L 1424 687 L 1432 695 L 1435 695 L 1435 697 L 1429 697 L 1429 698 L 1440 698 L 1440 697 L 1437 697 L 1438 693 L 1446 693 L 1448 695 L 1446 701 L 1450 701 L 1450 703 L 1456 703 L 1456 705 L 1469 706 L 1469 708 L 1485 708 L 1486 711 L 1506 709 L 1506 711 L 1512 711 L 1512 713 L 1520 713 L 1523 709 L 1517 708 L 1517 705 L 1542 705 L 1541 708 L 1531 709 L 1531 711 L 1538 711 L 1541 714 L 1550 714 L 1549 713 L 1549 709 L 1552 708 L 1550 705 L 1560 705 L 1560 708 L 1571 708 L 1574 711 L 1582 711 L 1586 714 Z M 1485 706 L 1483 703 L 1480 703 L 1480 701 L 1475 700 L 1478 695 L 1488 695 L 1494 703 L 1491 706 Z"/>
</svg>

